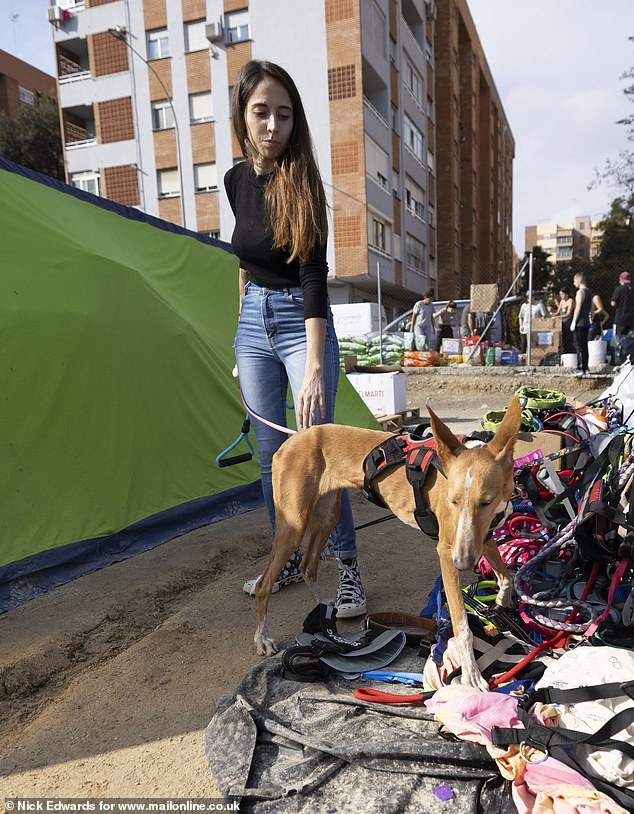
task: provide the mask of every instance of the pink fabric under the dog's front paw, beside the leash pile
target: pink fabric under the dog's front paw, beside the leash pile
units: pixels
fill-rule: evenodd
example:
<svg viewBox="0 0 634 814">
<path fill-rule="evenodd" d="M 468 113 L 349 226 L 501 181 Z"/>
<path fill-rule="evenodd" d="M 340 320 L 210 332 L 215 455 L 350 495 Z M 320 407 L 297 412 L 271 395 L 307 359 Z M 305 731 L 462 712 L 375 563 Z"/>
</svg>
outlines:
<svg viewBox="0 0 634 814">
<path fill-rule="evenodd" d="M 512 696 L 450 684 L 437 690 L 425 705 L 461 740 L 486 747 L 501 774 L 512 780 L 513 801 L 520 814 L 627 814 L 585 777 L 558 760 L 548 757 L 542 763 L 526 763 L 519 755 L 519 747 L 501 749 L 493 745 L 494 726 L 523 728 L 517 717 L 517 700 Z M 553 711 L 535 704 L 531 714 L 547 726 Z"/>
</svg>

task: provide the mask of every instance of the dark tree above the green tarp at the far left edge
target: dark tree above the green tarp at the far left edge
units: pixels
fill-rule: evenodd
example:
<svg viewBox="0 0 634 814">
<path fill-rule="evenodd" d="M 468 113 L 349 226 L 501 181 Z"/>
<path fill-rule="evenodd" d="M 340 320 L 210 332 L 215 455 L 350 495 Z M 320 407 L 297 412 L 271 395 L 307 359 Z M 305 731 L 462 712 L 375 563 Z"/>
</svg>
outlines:
<svg viewBox="0 0 634 814">
<path fill-rule="evenodd" d="M 0 113 L 0 155 L 31 170 L 64 180 L 57 101 L 37 94 L 13 119 Z"/>
</svg>

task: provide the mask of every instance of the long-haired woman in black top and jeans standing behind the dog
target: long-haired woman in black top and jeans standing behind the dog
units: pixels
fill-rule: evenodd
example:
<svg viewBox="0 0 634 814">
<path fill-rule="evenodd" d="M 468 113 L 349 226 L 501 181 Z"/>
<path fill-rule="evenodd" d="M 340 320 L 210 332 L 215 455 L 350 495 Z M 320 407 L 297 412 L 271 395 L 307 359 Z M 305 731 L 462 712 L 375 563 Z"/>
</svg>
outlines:
<svg viewBox="0 0 634 814">
<path fill-rule="evenodd" d="M 253 411 L 264 500 L 275 533 L 273 454 L 286 434 L 290 383 L 299 429 L 332 422 L 339 350 L 328 303 L 326 197 L 295 83 L 271 62 L 247 63 L 231 100 L 236 137 L 246 159 L 225 175 L 236 224 L 231 245 L 240 259 L 240 316 L 235 351 L 240 387 Z M 366 612 L 347 492 L 333 531 L 339 567 L 340 617 Z M 301 580 L 295 554 L 273 591 Z M 259 577 L 244 590 L 253 594 Z"/>
</svg>

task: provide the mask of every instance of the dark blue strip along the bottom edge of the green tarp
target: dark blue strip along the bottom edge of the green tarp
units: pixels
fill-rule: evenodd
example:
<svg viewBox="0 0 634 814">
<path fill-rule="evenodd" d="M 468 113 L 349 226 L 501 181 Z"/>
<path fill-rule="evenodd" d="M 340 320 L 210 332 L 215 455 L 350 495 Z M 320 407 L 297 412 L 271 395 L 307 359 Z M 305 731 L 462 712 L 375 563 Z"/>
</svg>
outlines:
<svg viewBox="0 0 634 814">
<path fill-rule="evenodd" d="M 150 515 L 108 537 L 68 543 L 0 567 L 0 613 L 115 562 L 127 560 L 194 529 L 264 505 L 255 481 Z"/>
</svg>

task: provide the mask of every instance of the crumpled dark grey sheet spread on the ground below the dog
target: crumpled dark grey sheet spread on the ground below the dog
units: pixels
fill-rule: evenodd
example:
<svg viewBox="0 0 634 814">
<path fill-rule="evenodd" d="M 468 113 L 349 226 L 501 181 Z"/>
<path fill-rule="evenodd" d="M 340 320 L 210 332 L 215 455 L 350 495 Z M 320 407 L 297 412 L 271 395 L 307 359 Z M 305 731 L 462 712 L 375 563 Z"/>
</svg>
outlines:
<svg viewBox="0 0 634 814">
<path fill-rule="evenodd" d="M 391 668 L 420 671 L 406 649 Z M 508 814 L 510 792 L 480 746 L 443 738 L 423 704 L 357 701 L 352 690 L 412 688 L 332 678 L 302 684 L 264 659 L 218 700 L 205 733 L 213 776 L 241 811 Z M 433 793 L 451 786 L 453 799 Z"/>
</svg>

